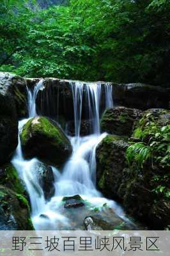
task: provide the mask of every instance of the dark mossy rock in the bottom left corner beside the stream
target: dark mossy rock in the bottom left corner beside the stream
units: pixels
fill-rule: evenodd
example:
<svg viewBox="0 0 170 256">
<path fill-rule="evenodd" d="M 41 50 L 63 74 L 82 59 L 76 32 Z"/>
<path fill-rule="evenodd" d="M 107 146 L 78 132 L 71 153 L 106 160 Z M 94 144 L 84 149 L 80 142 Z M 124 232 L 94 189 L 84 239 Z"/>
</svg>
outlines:
<svg viewBox="0 0 170 256">
<path fill-rule="evenodd" d="M 0 186 L 0 229 L 33 230 L 26 197 Z"/>
</svg>

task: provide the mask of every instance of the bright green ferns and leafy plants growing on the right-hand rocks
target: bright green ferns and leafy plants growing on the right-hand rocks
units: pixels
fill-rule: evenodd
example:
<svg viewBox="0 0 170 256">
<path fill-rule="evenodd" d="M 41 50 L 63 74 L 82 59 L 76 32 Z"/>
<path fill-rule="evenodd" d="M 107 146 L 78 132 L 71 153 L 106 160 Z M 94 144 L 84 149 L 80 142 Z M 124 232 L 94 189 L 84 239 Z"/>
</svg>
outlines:
<svg viewBox="0 0 170 256">
<path fill-rule="evenodd" d="M 162 195 L 166 199 L 170 198 L 170 173 L 168 172 L 170 167 L 170 125 L 160 128 L 151 137 L 148 145 L 139 142 L 128 147 L 126 157 L 129 165 L 137 163 L 138 168 L 143 168 L 143 164 L 150 160 L 150 165 L 153 169 L 156 164 L 160 170 L 164 170 L 162 175 L 153 175 L 151 184 L 154 193 Z"/>
</svg>

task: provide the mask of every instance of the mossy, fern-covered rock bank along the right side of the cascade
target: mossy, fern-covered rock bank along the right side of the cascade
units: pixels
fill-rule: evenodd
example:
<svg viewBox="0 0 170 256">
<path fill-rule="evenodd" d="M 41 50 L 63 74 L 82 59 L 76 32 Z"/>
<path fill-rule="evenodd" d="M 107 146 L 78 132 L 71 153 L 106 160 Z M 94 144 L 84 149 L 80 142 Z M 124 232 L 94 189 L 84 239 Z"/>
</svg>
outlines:
<svg viewBox="0 0 170 256">
<path fill-rule="evenodd" d="M 98 188 L 119 199 L 130 214 L 150 227 L 164 229 L 170 214 L 170 111 L 148 109 L 136 118 L 131 118 L 132 113 L 138 113 L 137 109 L 118 107 L 104 113 L 103 130 L 121 136 L 107 135 L 97 147 Z"/>
</svg>

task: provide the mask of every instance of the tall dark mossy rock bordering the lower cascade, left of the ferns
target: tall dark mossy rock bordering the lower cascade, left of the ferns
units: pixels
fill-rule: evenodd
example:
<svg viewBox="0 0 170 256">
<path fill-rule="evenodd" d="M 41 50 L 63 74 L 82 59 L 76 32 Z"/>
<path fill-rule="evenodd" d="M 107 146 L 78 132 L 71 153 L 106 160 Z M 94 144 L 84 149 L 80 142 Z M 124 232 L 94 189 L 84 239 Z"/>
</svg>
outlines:
<svg viewBox="0 0 170 256">
<path fill-rule="evenodd" d="M 109 197 L 118 196 L 123 168 L 126 166 L 128 143 L 123 139 L 121 136 L 107 135 L 96 151 L 98 186 Z"/>
</svg>

